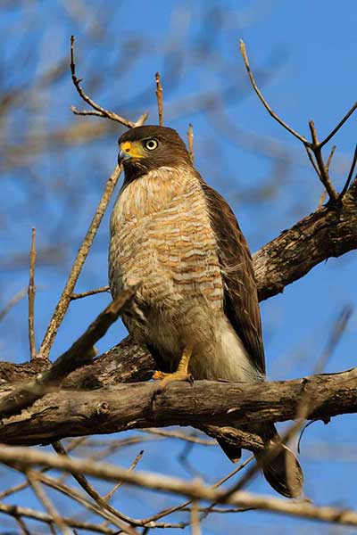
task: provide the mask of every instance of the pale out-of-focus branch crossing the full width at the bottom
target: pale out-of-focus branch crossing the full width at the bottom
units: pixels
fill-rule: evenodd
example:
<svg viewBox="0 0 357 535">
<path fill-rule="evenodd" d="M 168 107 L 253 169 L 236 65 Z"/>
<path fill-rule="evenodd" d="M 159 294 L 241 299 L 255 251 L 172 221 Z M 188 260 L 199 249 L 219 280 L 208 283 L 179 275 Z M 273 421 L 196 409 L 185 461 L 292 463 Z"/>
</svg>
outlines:
<svg viewBox="0 0 357 535">
<path fill-rule="evenodd" d="M 21 466 L 22 469 L 31 468 L 33 465 L 46 465 L 56 470 L 85 473 L 107 481 L 122 480 L 135 487 L 170 492 L 175 495 L 189 496 L 193 499 L 228 503 L 232 506 L 254 507 L 273 513 L 320 520 L 321 522 L 357 526 L 357 513 L 349 509 L 314 506 L 305 501 L 286 501 L 282 498 L 272 498 L 245 491 L 236 492 L 228 497 L 226 502 L 224 491 L 213 490 L 199 481 L 186 481 L 157 473 L 129 472 L 129 470 L 124 470 L 116 465 L 54 456 L 36 449 L 2 446 L 0 460 L 7 465 Z"/>
</svg>

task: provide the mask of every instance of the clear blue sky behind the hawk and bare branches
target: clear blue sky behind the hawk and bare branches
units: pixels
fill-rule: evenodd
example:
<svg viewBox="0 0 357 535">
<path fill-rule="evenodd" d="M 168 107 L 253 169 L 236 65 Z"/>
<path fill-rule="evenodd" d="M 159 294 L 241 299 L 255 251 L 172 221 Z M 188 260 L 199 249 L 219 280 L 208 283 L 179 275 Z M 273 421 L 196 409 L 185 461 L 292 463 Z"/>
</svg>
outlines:
<svg viewBox="0 0 357 535">
<path fill-rule="evenodd" d="M 73 2 L 72 8 L 69 3 L 56 1 L 33 2 L 26 7 L 25 4 L 7 10 L 0 20 L 6 36 L 4 62 L 10 61 L 24 43 L 29 50 L 27 61 L 12 63 L 12 69 L 6 71 L 2 87 L 19 82 L 31 87 L 37 73 L 68 54 L 69 39 L 74 34 L 78 72 L 84 78 L 84 86 L 91 80 L 95 99 L 108 108 L 127 113 L 130 119 L 148 109 L 149 122 L 157 121 L 154 73 L 162 72 L 166 124 L 177 128 L 182 136 L 186 135 L 188 122 L 194 124 L 196 167 L 231 203 L 252 251 L 316 208 L 322 191 L 319 180 L 309 167 L 303 146 L 270 118 L 253 94 L 238 40 L 245 40 L 252 68 L 271 107 L 303 135 L 308 135 L 308 120 L 314 119 L 322 138 L 356 100 L 357 7 L 353 0 L 340 3 L 332 0 L 295 3 L 138 0 L 135 4 L 124 0 Z M 94 21 L 100 22 L 102 33 L 95 30 Z M 138 59 L 136 42 L 144 50 Z M 206 51 L 205 55 L 202 50 Z M 118 65 L 123 66 L 119 72 Z M 104 86 L 99 85 L 98 90 L 93 75 L 105 78 Z M 41 102 L 37 115 L 29 115 L 28 110 L 20 107 L 13 112 L 12 129 L 9 128 L 12 143 L 21 146 L 26 144 L 31 132 L 70 128 L 76 120 L 86 124 L 89 132 L 100 124 L 101 119 L 71 116 L 72 103 L 83 106 L 71 85 L 69 72 L 54 87 L 37 88 L 37 91 Z M 203 111 L 203 96 L 210 92 L 224 97 L 216 98 L 210 111 Z M 180 105 L 177 111 L 178 102 L 190 103 L 191 99 L 194 104 L 187 105 L 185 111 Z M 227 120 L 223 119 L 219 128 L 220 110 Z M 241 137 L 236 135 L 237 130 Z M 4 259 L 12 258 L 13 254 L 28 251 L 31 226 L 37 227 L 39 248 L 51 245 L 60 250 L 65 244 L 65 258 L 59 266 L 39 264 L 37 268 L 37 342 L 45 332 L 105 179 L 115 165 L 120 131 L 118 128 L 117 133 L 109 133 L 91 144 L 73 143 L 54 148 L 48 142 L 45 150 L 30 155 L 27 165 L 3 172 L 3 199 L 9 202 L 4 206 L 1 265 L 4 267 Z M 336 158 L 331 172 L 337 189 L 344 184 L 348 172 L 355 134 L 356 119 L 352 118 L 336 136 Z M 276 161 L 270 154 L 257 150 L 256 144 L 252 147 L 248 143 L 252 136 L 257 136 L 264 146 L 274 141 L 289 160 L 278 186 L 261 202 L 252 201 L 252 193 L 270 183 Z M 69 193 L 63 193 L 63 185 L 69 186 Z M 38 196 L 39 206 L 35 202 Z M 106 284 L 108 217 L 107 214 L 104 218 L 79 279 L 78 291 Z M 345 304 L 355 305 L 357 301 L 353 284 L 356 267 L 355 251 L 340 259 L 328 259 L 302 280 L 286 287 L 283 294 L 262 303 L 270 378 L 311 373 L 339 311 Z M 5 266 L 0 285 L 1 303 L 27 284 L 27 280 L 25 269 Z M 95 296 L 71 306 L 54 343 L 54 358 L 71 345 L 108 300 L 106 295 Z M 2 359 L 20 362 L 28 358 L 26 314 L 26 303 L 22 302 L 0 324 Z M 355 365 L 356 327 L 353 312 L 347 331 L 328 362 L 328 371 Z M 99 350 L 112 347 L 124 333 L 122 326 L 113 326 L 98 343 Z M 301 462 L 306 494 L 321 505 L 357 506 L 356 468 L 353 463 L 338 458 L 311 460 L 304 456 L 304 445 L 313 449 L 314 444 L 322 442 L 333 446 L 355 444 L 355 428 L 355 416 L 343 416 L 328 425 L 314 424 L 304 435 Z M 170 444 L 168 449 L 160 450 L 160 455 L 169 473 L 187 476 L 175 453 L 181 447 Z M 153 444 L 148 448 L 141 467 L 153 470 L 158 468 L 158 446 Z M 127 465 L 133 452 L 134 449 L 128 449 L 128 457 L 120 457 L 116 462 Z M 230 468 L 217 449 L 195 449 L 192 460 L 201 472 L 208 474 L 210 481 Z M 254 481 L 250 489 L 269 491 L 262 478 Z M 125 502 L 129 509 L 137 507 L 133 491 L 128 492 Z M 234 526 L 241 525 L 259 527 L 269 533 L 276 526 L 272 515 L 253 512 L 234 518 L 222 515 L 215 522 L 211 525 L 206 521 L 203 531 L 213 533 L 224 529 L 233 533 Z M 295 529 L 317 533 L 326 528 L 282 518 L 279 529 L 282 533 Z"/>
</svg>

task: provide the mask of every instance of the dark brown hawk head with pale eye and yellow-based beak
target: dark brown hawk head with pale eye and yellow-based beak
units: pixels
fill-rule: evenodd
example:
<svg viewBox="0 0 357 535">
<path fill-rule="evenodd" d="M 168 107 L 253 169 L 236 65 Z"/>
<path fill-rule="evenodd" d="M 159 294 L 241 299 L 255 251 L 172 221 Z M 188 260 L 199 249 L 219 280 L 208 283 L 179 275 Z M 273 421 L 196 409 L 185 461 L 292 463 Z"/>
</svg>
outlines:
<svg viewBox="0 0 357 535">
<path fill-rule="evenodd" d="M 186 145 L 173 128 L 130 128 L 119 138 L 118 161 L 127 180 L 161 167 L 192 166 Z"/>
</svg>

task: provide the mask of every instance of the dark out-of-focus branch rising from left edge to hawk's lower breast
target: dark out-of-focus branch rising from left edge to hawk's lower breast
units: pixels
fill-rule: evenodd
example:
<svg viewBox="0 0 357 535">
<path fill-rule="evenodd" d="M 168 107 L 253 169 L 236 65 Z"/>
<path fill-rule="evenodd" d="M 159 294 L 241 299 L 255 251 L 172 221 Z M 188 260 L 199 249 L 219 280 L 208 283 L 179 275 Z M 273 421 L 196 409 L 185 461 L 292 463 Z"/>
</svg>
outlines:
<svg viewBox="0 0 357 535">
<path fill-rule="evenodd" d="M 54 364 L 37 375 L 36 381 L 21 386 L 17 391 L 13 391 L 0 402 L 0 414 L 9 416 L 21 408 L 28 407 L 36 399 L 41 398 L 51 390 L 55 384 L 62 381 L 68 374 L 91 362 L 93 357 L 93 346 L 107 332 L 108 328 L 118 319 L 122 309 L 128 304 L 137 292 L 138 286 L 131 286 L 124 289 L 117 300 L 112 301 L 106 309 L 95 318 L 89 325 L 85 333 L 71 345 L 71 348 L 61 357 L 57 358 Z"/>
</svg>

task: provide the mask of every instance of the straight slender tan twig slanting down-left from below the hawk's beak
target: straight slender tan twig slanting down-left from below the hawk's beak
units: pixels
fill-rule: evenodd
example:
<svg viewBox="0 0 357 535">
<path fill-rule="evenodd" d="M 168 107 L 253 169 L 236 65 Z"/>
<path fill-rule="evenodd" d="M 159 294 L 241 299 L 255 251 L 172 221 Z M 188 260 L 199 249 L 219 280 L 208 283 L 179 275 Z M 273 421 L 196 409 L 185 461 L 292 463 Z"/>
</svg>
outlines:
<svg viewBox="0 0 357 535">
<path fill-rule="evenodd" d="M 62 319 L 70 305 L 71 295 L 79 278 L 80 271 L 83 268 L 83 265 L 87 259 L 89 249 L 93 243 L 93 240 L 95 239 L 95 235 L 99 228 L 99 225 L 101 224 L 104 212 L 108 206 L 108 203 L 111 200 L 112 192 L 114 191 L 115 185 L 117 184 L 118 179 L 120 177 L 120 172 L 121 168 L 119 166 L 116 166 L 116 168 L 112 172 L 112 175 L 108 178 L 104 186 L 104 193 L 95 210 L 95 215 L 87 230 L 87 234 L 79 247 L 77 257 L 74 260 L 73 266 L 71 268 L 70 276 L 68 277 L 67 283 L 64 286 L 60 300 L 58 301 L 56 308 L 54 309 L 54 315 L 51 318 L 51 321 L 47 327 L 44 340 L 39 349 L 38 354 L 42 358 L 48 358 L 49 352 L 54 343 L 55 335 L 59 329 L 59 326 L 62 324 Z"/>
</svg>

